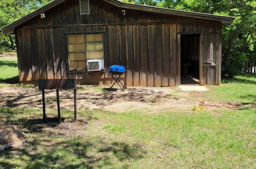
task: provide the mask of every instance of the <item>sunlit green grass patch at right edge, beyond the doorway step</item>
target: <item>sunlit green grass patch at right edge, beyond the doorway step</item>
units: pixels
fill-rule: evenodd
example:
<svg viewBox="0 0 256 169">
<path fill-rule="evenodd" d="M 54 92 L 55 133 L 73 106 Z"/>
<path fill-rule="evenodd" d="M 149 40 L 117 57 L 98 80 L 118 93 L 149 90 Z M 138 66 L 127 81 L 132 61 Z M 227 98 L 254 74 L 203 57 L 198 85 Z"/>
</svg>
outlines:
<svg viewBox="0 0 256 169">
<path fill-rule="evenodd" d="M 241 104 L 256 105 L 255 74 L 223 79 L 220 86 L 208 86 L 208 88 L 211 89 L 205 94 L 208 98 L 222 102 L 236 101 Z"/>
</svg>

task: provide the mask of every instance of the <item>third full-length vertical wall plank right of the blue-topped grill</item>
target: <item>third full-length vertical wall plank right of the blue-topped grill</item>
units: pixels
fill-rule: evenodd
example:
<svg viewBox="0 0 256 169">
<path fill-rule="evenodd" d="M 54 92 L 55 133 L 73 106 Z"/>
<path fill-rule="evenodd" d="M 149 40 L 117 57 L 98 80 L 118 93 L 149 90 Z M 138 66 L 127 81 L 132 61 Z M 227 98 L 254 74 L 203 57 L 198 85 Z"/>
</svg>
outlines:
<svg viewBox="0 0 256 169">
<path fill-rule="evenodd" d="M 140 26 L 140 86 L 147 86 L 148 72 L 148 26 Z"/>
</svg>

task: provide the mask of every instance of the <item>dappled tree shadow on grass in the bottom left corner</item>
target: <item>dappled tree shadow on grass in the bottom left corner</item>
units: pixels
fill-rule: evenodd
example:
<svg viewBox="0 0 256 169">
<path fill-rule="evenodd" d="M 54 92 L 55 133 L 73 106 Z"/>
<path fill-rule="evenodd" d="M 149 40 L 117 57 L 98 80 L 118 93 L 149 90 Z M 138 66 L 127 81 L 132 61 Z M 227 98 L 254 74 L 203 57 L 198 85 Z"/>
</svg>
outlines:
<svg viewBox="0 0 256 169">
<path fill-rule="evenodd" d="M 45 137 L 44 137 L 45 138 Z M 98 148 L 98 145 L 92 141 L 86 141 L 83 138 L 77 137 L 61 142 L 54 142 L 49 146 L 43 146 L 42 142 L 54 142 L 51 139 L 32 140 L 27 143 L 26 147 L 4 151 L 1 155 L 5 159 L 0 161 L 0 167 L 14 168 L 98 168 L 106 167 L 115 164 L 113 158 L 117 158 L 122 162 L 123 160 L 136 160 L 143 157 L 145 152 L 140 151 L 138 145 L 128 145 L 124 142 L 112 142 L 111 148 L 106 146 L 106 151 Z M 106 142 L 106 141 L 105 141 Z M 38 152 L 36 149 L 42 151 Z M 89 153 L 92 149 L 98 149 L 100 156 L 96 153 Z M 97 152 L 97 153 L 98 153 Z M 112 152 L 113 154 L 109 154 Z M 16 157 L 15 157 L 15 156 Z M 10 160 L 9 160 L 10 159 Z M 12 163 L 12 160 L 21 160 L 25 164 Z"/>
</svg>

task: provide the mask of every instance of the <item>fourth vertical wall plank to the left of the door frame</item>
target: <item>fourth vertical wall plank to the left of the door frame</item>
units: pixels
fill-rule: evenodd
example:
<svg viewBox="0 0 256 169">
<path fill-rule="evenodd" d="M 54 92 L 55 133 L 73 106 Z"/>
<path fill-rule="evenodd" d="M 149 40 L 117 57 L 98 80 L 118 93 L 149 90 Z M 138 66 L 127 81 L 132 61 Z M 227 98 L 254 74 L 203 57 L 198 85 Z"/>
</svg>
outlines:
<svg viewBox="0 0 256 169">
<path fill-rule="evenodd" d="M 148 26 L 148 87 L 155 86 L 155 28 Z"/>
</svg>

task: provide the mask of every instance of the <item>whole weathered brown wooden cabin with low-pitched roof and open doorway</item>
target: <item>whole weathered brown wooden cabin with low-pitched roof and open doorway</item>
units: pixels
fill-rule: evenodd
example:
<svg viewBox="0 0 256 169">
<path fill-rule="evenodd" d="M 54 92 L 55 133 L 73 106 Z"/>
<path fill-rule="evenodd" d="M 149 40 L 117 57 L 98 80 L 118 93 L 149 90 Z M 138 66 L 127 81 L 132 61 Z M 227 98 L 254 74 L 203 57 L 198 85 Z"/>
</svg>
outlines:
<svg viewBox="0 0 256 169">
<path fill-rule="evenodd" d="M 56 0 L 2 28 L 15 34 L 19 79 L 126 86 L 221 83 L 222 25 L 234 17 L 121 3 Z"/>
</svg>

